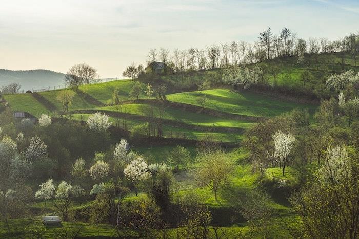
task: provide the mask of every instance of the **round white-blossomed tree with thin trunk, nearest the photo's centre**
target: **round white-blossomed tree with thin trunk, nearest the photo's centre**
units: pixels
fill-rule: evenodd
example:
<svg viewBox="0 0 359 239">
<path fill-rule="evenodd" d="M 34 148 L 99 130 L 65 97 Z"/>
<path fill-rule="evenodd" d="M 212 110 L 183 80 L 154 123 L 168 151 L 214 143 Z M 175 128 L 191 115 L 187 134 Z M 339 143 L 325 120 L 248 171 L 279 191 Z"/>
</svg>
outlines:
<svg viewBox="0 0 359 239">
<path fill-rule="evenodd" d="M 124 170 L 124 173 L 128 180 L 130 180 L 135 188 L 137 196 L 137 184 L 151 176 L 151 173 L 148 171 L 148 164 L 142 157 L 137 157 L 128 164 Z"/>
</svg>

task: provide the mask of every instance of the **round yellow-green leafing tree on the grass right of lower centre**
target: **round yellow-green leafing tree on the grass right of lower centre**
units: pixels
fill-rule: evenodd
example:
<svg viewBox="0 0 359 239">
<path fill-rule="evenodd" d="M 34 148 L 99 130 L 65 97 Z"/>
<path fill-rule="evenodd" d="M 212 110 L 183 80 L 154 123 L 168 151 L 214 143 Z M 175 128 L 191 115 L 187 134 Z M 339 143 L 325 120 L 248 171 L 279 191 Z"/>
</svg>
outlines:
<svg viewBox="0 0 359 239">
<path fill-rule="evenodd" d="M 228 181 L 234 169 L 229 156 L 222 151 L 205 154 L 200 159 L 200 166 L 197 169 L 196 179 L 198 185 L 207 186 L 214 192 L 217 200 L 217 191 Z"/>
</svg>

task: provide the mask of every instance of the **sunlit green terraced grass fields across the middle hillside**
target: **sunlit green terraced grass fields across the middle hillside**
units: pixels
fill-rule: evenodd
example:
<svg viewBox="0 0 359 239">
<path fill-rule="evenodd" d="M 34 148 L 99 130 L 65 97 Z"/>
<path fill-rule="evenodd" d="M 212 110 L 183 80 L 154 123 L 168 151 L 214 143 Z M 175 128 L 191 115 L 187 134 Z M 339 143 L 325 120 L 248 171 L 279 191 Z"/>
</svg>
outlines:
<svg viewBox="0 0 359 239">
<path fill-rule="evenodd" d="M 244 130 L 260 118 L 273 117 L 297 107 L 308 107 L 311 112 L 315 109 L 313 105 L 292 103 L 250 92 L 213 89 L 202 93 L 168 95 L 167 99 L 173 103 L 166 104 L 160 110 L 159 101 L 156 100 L 128 101 L 134 84 L 130 80 L 118 80 L 81 86 L 69 107 L 71 119 L 86 120 L 90 114 L 103 112 L 111 116 L 110 120 L 114 125 L 123 127 L 121 122 L 126 112 L 126 129 L 131 131 L 134 126 L 146 122 L 150 117 L 159 117 L 162 111 L 164 137 L 202 140 L 210 132 L 218 141 L 237 143 L 243 138 Z M 106 106 L 114 89 L 119 89 L 120 98 L 127 100 L 121 110 L 118 106 Z M 61 111 L 62 108 L 61 102 L 56 99 L 61 91 L 41 92 L 38 95 L 6 95 L 4 98 L 13 110 L 26 111 L 36 117 L 41 114 L 55 116 L 56 111 Z M 206 96 L 204 111 L 197 102 L 203 96 Z M 144 99 L 144 95 L 140 98 Z"/>
</svg>

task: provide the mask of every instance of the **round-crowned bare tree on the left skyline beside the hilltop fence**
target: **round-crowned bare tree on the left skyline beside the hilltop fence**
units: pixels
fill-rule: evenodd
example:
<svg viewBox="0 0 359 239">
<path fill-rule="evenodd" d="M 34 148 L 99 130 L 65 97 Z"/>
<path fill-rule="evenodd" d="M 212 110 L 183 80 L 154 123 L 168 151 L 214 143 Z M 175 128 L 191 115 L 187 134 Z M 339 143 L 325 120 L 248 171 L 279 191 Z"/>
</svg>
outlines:
<svg viewBox="0 0 359 239">
<path fill-rule="evenodd" d="M 92 83 L 97 76 L 97 70 L 88 64 L 75 64 L 66 73 L 65 82 L 77 88 L 80 85 Z"/>
</svg>

